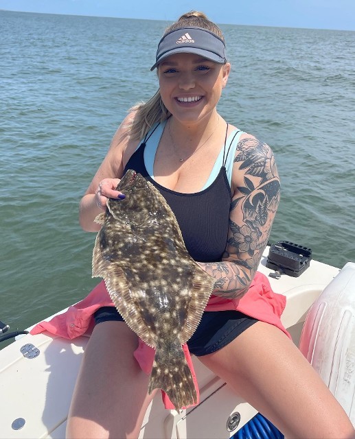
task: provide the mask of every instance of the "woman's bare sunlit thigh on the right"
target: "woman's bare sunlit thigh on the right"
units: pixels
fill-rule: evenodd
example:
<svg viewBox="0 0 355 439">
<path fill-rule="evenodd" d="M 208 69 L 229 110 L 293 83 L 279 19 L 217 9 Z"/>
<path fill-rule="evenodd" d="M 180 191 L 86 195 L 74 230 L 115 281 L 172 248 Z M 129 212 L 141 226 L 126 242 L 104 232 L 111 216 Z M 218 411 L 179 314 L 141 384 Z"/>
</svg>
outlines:
<svg viewBox="0 0 355 439">
<path fill-rule="evenodd" d="M 312 366 L 282 331 L 257 322 L 220 351 L 198 357 L 289 438 L 354 438 Z"/>
</svg>

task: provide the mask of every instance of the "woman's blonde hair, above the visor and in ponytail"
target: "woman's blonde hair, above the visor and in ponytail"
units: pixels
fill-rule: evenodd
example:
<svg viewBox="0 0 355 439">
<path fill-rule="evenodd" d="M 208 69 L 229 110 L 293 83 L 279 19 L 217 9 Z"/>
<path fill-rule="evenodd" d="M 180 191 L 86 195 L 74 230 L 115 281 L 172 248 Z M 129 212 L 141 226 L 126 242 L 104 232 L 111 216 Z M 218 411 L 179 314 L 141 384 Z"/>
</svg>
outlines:
<svg viewBox="0 0 355 439">
<path fill-rule="evenodd" d="M 212 21 L 209 21 L 203 12 L 198 11 L 190 11 L 181 15 L 177 21 L 165 29 L 163 36 L 180 27 L 189 26 L 202 27 L 209 30 L 209 32 L 213 32 L 223 41 L 225 40 L 220 28 Z M 159 90 L 147 102 L 139 102 L 130 108 L 130 111 L 135 112 L 135 117 L 133 117 L 131 125 L 127 128 L 131 139 L 137 140 L 143 139 L 154 123 L 163 122 L 171 116 L 170 111 L 163 104 Z"/>
</svg>

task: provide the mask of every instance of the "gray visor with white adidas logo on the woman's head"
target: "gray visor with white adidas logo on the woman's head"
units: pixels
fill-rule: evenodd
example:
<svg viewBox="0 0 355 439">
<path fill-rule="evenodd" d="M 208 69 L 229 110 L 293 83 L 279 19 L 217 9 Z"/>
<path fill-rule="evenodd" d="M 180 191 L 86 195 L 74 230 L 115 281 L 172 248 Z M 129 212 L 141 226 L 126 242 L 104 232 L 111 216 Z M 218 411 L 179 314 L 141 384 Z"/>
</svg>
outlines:
<svg viewBox="0 0 355 439">
<path fill-rule="evenodd" d="M 218 64 L 227 62 L 225 43 L 216 34 L 202 27 L 181 27 L 164 35 L 150 70 L 154 70 L 161 61 L 174 54 L 196 54 Z"/>
</svg>

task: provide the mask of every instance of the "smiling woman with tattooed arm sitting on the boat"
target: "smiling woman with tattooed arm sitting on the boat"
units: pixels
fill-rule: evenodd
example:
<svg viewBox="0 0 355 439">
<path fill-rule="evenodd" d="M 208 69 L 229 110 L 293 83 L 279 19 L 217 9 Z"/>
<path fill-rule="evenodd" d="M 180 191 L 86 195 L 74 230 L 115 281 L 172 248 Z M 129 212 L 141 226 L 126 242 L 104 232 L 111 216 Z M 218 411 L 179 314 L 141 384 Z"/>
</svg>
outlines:
<svg viewBox="0 0 355 439">
<path fill-rule="evenodd" d="M 251 296 L 279 178 L 271 148 L 218 115 L 231 69 L 220 29 L 202 13 L 181 16 L 159 43 L 155 68 L 159 91 L 115 133 L 81 200 L 82 228 L 98 231 L 94 219 L 107 199 L 125 196 L 115 191 L 124 172 L 141 172 L 172 207 L 187 250 L 216 279 L 190 352 L 288 438 L 354 438 L 345 412 L 287 337 L 284 298 L 271 293 L 269 304 L 255 305 Z M 154 396 L 134 356 L 137 336 L 112 306 L 100 307 L 95 322 L 67 436 L 137 438 Z"/>
</svg>

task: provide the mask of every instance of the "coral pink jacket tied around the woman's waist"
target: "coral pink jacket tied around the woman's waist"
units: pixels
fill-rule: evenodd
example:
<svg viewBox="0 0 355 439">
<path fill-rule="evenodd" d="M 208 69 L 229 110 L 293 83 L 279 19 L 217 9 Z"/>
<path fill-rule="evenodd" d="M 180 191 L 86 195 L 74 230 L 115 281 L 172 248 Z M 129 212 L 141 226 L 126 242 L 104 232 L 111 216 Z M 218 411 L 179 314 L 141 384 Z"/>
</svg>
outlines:
<svg viewBox="0 0 355 439">
<path fill-rule="evenodd" d="M 41 322 L 30 331 L 32 335 L 48 331 L 51 334 L 59 335 L 68 339 L 79 337 L 84 333 L 91 333 L 94 322 L 93 313 L 100 307 L 114 306 L 113 302 L 108 295 L 106 285 L 104 281 L 101 281 L 91 293 L 67 309 L 62 314 L 55 316 L 49 322 Z M 207 303 L 205 311 L 227 311 L 236 310 L 240 311 L 247 316 L 261 320 L 269 324 L 275 325 L 275 327 L 281 329 L 290 337 L 280 317 L 286 306 L 286 297 L 282 294 L 276 294 L 271 289 L 268 278 L 260 273 L 256 272 L 255 277 L 249 287 L 248 292 L 240 299 L 226 299 L 218 296 L 211 296 Z M 183 345 L 183 351 L 187 360 L 187 364 L 194 377 L 194 383 L 196 392 L 199 393 L 196 380 L 196 374 L 194 372 L 194 365 L 192 364 L 192 358 L 187 348 L 187 344 Z M 139 340 L 139 346 L 135 351 L 135 359 L 137 359 L 139 366 L 144 372 L 150 374 L 152 370 L 152 364 L 154 360 L 155 351 L 153 348 L 147 346 L 144 342 Z M 168 396 L 163 392 L 163 402 L 165 408 L 174 409 Z"/>
</svg>

